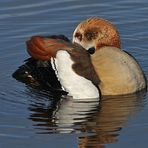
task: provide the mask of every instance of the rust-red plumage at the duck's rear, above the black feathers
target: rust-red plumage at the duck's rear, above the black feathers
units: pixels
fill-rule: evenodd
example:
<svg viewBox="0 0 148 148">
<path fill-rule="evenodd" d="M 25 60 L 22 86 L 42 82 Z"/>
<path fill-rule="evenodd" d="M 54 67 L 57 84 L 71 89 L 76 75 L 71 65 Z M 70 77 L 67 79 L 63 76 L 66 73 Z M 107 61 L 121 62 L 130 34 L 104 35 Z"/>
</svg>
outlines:
<svg viewBox="0 0 148 148">
<path fill-rule="evenodd" d="M 66 49 L 69 43 L 61 39 L 33 36 L 26 42 L 28 53 L 35 59 L 48 61 L 55 57 L 60 49 Z"/>
</svg>

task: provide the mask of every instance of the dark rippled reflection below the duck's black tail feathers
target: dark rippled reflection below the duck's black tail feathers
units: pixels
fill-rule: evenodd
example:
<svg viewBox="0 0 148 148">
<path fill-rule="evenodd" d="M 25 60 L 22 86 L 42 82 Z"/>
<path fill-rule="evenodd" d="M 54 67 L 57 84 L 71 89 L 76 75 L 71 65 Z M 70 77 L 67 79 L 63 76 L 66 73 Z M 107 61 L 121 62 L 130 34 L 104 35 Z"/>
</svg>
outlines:
<svg viewBox="0 0 148 148">
<path fill-rule="evenodd" d="M 41 129 L 42 132 L 46 129 L 48 132 L 50 129 L 51 132 L 54 132 L 54 128 L 56 128 L 54 112 L 58 108 L 62 93 L 54 92 L 56 95 L 53 96 L 51 91 L 32 87 L 27 87 L 26 93 L 30 96 L 28 110 L 30 111 L 29 119 L 34 122 L 33 126 Z"/>
</svg>

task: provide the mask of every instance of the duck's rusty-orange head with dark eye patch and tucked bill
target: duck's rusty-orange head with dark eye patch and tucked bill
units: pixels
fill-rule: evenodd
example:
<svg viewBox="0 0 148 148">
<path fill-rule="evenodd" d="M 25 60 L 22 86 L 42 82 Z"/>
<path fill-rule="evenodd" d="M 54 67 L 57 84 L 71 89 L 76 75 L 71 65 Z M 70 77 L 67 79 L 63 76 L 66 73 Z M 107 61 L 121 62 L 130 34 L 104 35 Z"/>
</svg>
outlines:
<svg viewBox="0 0 148 148">
<path fill-rule="evenodd" d="M 120 48 L 120 37 L 116 27 L 109 21 L 93 17 L 81 22 L 73 33 L 73 43 L 80 44 L 90 53 L 103 46 Z"/>
</svg>

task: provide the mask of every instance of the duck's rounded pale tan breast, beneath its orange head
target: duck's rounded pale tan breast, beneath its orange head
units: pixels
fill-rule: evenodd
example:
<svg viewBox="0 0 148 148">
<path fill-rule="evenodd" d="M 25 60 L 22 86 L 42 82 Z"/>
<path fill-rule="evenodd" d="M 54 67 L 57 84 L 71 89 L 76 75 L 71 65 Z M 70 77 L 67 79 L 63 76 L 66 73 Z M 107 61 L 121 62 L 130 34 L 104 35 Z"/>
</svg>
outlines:
<svg viewBox="0 0 148 148">
<path fill-rule="evenodd" d="M 92 56 L 92 63 L 100 77 L 104 95 L 129 94 L 146 87 L 137 61 L 121 49 L 103 47 Z"/>
</svg>

